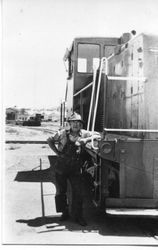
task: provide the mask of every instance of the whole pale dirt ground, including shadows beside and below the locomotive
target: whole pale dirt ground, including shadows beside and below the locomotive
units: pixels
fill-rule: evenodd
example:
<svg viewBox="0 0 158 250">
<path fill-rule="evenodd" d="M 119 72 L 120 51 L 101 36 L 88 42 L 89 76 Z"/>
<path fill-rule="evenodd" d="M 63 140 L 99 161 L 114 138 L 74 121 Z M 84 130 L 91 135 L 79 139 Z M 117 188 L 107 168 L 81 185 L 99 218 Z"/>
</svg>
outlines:
<svg viewBox="0 0 158 250">
<path fill-rule="evenodd" d="M 57 126 L 52 127 L 53 131 Z M 6 140 L 46 140 L 51 134 L 19 126 L 6 126 Z M 6 144 L 2 167 L 3 244 L 36 245 L 157 245 L 157 221 L 100 216 L 85 196 L 87 227 L 73 221 L 60 222 L 55 210 L 55 186 L 43 183 L 45 219 L 42 217 L 41 183 L 17 182 L 18 171 L 49 167 L 47 144 Z M 148 232 L 148 227 L 154 230 Z M 153 229 L 154 228 L 154 229 Z M 155 233 L 156 232 L 156 233 Z"/>
</svg>

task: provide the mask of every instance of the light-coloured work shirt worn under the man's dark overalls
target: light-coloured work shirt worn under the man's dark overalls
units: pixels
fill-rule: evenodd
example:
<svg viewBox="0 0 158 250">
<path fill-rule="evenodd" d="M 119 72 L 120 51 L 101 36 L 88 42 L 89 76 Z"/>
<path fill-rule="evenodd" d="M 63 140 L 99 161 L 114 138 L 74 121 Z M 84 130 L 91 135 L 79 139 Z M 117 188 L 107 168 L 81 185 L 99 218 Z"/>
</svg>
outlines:
<svg viewBox="0 0 158 250">
<path fill-rule="evenodd" d="M 98 132 L 94 132 L 95 135 L 98 135 L 99 137 L 99 133 Z M 81 129 L 78 133 L 77 136 L 73 136 L 71 134 L 71 131 L 70 130 L 65 130 L 65 129 L 62 129 L 62 130 L 59 130 L 53 137 L 52 137 L 52 140 L 54 142 L 57 142 L 58 143 L 58 150 L 60 152 L 62 152 L 64 146 L 66 145 L 67 143 L 67 137 L 69 136 L 69 139 L 73 142 L 76 142 L 76 141 L 80 141 L 80 139 L 82 138 L 88 138 L 88 137 L 91 137 L 92 136 L 92 133 L 87 131 L 87 130 L 84 130 L 84 129 Z"/>
</svg>

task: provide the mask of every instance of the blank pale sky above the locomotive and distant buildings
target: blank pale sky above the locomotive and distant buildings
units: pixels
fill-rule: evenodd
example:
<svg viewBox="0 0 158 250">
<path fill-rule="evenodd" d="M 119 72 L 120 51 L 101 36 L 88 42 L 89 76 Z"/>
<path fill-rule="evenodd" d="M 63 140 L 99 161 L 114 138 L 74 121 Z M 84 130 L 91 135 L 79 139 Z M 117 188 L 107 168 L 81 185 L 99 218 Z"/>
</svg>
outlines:
<svg viewBox="0 0 158 250">
<path fill-rule="evenodd" d="M 157 0 L 2 0 L 1 8 L 5 107 L 59 106 L 63 56 L 75 37 L 158 35 Z"/>
</svg>

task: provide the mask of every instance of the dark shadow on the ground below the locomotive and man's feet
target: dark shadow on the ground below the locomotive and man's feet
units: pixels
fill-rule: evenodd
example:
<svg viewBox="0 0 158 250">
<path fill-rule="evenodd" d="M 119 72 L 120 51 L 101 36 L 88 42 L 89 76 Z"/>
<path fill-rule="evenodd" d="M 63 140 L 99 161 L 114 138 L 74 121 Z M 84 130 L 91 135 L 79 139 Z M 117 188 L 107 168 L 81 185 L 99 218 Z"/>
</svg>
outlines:
<svg viewBox="0 0 158 250">
<path fill-rule="evenodd" d="M 105 236 L 135 236 L 154 237 L 158 236 L 158 218 L 147 218 L 140 216 L 119 216 L 99 214 L 96 211 L 85 216 L 88 225 L 83 227 L 76 224 L 71 218 L 60 221 L 59 216 L 38 217 L 34 219 L 19 219 L 16 222 L 26 223 L 30 227 L 46 226 L 38 233 L 51 231 L 82 231 L 84 233 L 98 233 Z"/>
</svg>

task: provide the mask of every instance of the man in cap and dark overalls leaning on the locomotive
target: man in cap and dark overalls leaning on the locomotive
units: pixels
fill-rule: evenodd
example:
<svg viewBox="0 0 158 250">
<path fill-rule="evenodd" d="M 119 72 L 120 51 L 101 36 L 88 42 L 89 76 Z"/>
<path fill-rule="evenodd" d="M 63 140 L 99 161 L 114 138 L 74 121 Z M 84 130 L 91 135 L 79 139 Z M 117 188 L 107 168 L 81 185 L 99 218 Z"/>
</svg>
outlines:
<svg viewBox="0 0 158 250">
<path fill-rule="evenodd" d="M 91 133 L 82 129 L 83 121 L 81 116 L 73 113 L 68 120 L 69 129 L 58 131 L 53 137 L 48 138 L 50 148 L 58 155 L 55 164 L 56 189 L 55 196 L 57 212 L 62 212 L 60 220 L 69 218 L 67 201 L 67 180 L 72 189 L 72 216 L 75 221 L 86 226 L 83 218 L 83 195 L 81 182 L 82 167 L 82 144 L 91 140 Z M 98 133 L 95 138 L 100 138 Z M 56 147 L 58 143 L 58 147 Z"/>
</svg>

